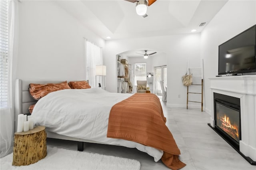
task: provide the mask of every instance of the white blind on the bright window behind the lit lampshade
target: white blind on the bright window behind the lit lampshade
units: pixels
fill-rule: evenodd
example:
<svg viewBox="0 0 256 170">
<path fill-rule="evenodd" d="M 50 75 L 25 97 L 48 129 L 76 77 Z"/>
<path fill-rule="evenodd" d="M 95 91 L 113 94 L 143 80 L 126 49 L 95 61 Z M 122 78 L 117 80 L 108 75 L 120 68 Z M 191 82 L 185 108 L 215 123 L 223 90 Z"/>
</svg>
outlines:
<svg viewBox="0 0 256 170">
<path fill-rule="evenodd" d="M 96 65 L 102 64 L 102 48 L 86 40 L 86 79 L 91 87 L 96 87 Z"/>
</svg>

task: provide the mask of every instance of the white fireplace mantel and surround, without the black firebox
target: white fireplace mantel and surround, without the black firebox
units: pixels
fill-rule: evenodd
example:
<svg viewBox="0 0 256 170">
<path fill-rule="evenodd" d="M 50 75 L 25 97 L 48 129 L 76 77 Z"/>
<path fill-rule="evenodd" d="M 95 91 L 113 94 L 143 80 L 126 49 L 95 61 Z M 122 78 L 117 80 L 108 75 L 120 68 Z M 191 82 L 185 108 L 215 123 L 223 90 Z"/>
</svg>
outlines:
<svg viewBox="0 0 256 170">
<path fill-rule="evenodd" d="M 240 98 L 241 140 L 240 152 L 256 161 L 256 75 L 210 77 L 214 123 L 214 93 Z"/>
</svg>

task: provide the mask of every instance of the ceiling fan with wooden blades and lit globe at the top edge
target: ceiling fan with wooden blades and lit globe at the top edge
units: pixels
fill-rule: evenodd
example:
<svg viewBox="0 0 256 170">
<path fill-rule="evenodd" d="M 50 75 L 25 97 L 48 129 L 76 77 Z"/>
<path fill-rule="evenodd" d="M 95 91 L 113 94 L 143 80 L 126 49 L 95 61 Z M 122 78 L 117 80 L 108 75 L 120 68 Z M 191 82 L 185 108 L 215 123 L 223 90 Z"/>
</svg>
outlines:
<svg viewBox="0 0 256 170">
<path fill-rule="evenodd" d="M 156 2 L 156 0 L 125 0 L 125 1 L 129 1 L 132 3 L 136 2 L 136 12 L 138 15 L 143 16 L 144 18 L 148 16 L 146 14 L 147 6 L 150 6 L 154 2 Z"/>
</svg>

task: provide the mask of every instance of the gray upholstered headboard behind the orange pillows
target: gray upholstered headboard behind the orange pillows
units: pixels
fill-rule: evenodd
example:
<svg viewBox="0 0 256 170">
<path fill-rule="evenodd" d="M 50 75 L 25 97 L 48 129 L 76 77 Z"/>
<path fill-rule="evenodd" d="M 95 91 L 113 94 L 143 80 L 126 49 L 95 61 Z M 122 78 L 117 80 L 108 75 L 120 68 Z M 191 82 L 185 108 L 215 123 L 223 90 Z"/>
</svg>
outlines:
<svg viewBox="0 0 256 170">
<path fill-rule="evenodd" d="M 64 80 L 66 81 L 66 80 Z M 73 80 L 71 80 L 73 81 Z M 79 80 L 75 80 L 79 81 Z M 30 83 L 46 84 L 46 83 L 61 83 L 61 80 L 21 80 L 16 79 L 15 82 L 15 131 L 17 130 L 18 115 L 29 113 L 29 106 L 36 103 L 29 91 Z M 68 81 L 69 82 L 69 81 Z M 88 82 L 88 80 L 87 80 Z"/>
</svg>

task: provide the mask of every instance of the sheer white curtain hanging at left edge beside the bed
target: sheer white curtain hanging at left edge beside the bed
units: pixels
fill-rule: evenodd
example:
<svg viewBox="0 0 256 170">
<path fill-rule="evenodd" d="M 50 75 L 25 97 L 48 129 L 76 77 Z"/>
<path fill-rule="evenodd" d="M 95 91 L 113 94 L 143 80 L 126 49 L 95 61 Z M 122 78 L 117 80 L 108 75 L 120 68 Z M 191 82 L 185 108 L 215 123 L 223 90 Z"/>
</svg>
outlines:
<svg viewBox="0 0 256 170">
<path fill-rule="evenodd" d="M 16 66 L 17 66 L 17 50 L 14 50 L 14 46 L 17 44 L 17 37 L 14 36 L 14 32 L 17 32 L 17 26 L 14 23 L 17 23 L 18 18 L 18 1 L 16 0 L 1 0 L 3 3 L 4 1 L 7 2 L 8 8 L 5 14 L 8 14 L 8 58 L 7 62 L 7 80 L 6 82 L 6 89 L 7 89 L 7 102 L 2 105 L 0 108 L 0 130 L 1 130 L 1 137 L 0 137 L 0 157 L 6 156 L 10 152 L 12 152 L 13 146 L 13 136 L 14 136 L 14 82 L 16 78 Z M 2 3 L 1 2 L 1 3 Z M 1 15 L 4 14 L 4 8 L 6 4 L 1 4 Z M 2 6 L 3 5 L 3 6 Z M 2 20 L 2 18 L 1 18 Z M 3 22 L 3 21 L 1 21 Z M 2 41 L 2 40 L 1 40 Z M 5 40 L 4 40 L 5 41 Z M 2 55 L 2 53 L 1 53 Z M 15 56 L 14 56 L 15 55 Z M 2 62 L 2 61 L 1 61 Z M 2 74 L 2 73 L 1 73 Z M 2 79 L 1 79 L 2 83 Z M 3 93 L 1 93 L 2 97 Z"/>
</svg>

